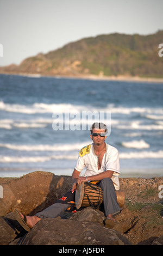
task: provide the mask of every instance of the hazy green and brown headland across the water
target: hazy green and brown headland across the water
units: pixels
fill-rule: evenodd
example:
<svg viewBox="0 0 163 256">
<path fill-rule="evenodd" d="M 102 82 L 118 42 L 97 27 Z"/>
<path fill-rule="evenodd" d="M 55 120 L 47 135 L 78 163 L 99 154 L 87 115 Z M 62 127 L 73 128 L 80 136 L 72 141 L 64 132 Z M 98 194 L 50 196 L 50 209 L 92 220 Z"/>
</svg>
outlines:
<svg viewBox="0 0 163 256">
<path fill-rule="evenodd" d="M 0 72 L 159 78 L 163 77 L 159 44 L 163 44 L 163 31 L 151 35 L 99 35 L 71 42 L 47 54 L 37 54 L 20 65 L 0 68 Z"/>
</svg>

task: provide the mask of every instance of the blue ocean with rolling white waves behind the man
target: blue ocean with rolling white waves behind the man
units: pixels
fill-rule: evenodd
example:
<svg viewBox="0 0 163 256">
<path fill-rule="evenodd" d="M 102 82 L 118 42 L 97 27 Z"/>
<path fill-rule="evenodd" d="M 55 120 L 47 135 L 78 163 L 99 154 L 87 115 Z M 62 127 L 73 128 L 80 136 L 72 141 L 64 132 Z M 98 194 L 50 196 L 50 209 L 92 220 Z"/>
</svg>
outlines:
<svg viewBox="0 0 163 256">
<path fill-rule="evenodd" d="M 120 178 L 163 170 L 163 83 L 0 75 L 0 177 L 72 175 L 94 121 L 120 154 Z"/>
</svg>

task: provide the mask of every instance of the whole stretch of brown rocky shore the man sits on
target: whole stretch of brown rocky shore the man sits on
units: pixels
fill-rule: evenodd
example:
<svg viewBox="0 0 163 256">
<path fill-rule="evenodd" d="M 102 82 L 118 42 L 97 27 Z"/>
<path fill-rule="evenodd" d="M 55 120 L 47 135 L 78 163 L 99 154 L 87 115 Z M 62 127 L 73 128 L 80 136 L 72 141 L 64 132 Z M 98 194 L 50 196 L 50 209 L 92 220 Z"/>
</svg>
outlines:
<svg viewBox="0 0 163 256">
<path fill-rule="evenodd" d="M 66 193 L 71 176 L 34 172 L 21 178 L 0 178 L 1 245 L 162 245 L 162 199 L 158 197 L 163 178 L 120 179 L 126 202 L 116 216 L 114 229 L 103 226 L 102 209 L 86 208 L 76 214 L 38 222 L 29 233 L 15 220 L 13 211 L 34 215 Z M 134 188 L 134 189 L 133 189 Z M 79 237 L 77 237 L 76 230 Z M 86 237 L 86 238 L 85 238 Z M 63 242 L 63 243 L 62 243 Z"/>
</svg>

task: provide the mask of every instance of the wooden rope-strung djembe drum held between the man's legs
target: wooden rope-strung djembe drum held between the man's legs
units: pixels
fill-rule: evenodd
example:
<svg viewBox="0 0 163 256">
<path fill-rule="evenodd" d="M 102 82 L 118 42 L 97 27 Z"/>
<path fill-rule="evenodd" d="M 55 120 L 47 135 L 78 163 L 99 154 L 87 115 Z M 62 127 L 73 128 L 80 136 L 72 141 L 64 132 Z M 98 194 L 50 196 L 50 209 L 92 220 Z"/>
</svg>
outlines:
<svg viewBox="0 0 163 256">
<path fill-rule="evenodd" d="M 122 208 L 124 205 L 125 194 L 124 190 L 116 191 L 117 202 Z M 79 186 L 77 185 L 76 190 L 76 208 L 92 206 L 98 208 L 103 202 L 103 190 L 101 187 L 92 184 L 91 182 L 82 182 Z"/>
</svg>

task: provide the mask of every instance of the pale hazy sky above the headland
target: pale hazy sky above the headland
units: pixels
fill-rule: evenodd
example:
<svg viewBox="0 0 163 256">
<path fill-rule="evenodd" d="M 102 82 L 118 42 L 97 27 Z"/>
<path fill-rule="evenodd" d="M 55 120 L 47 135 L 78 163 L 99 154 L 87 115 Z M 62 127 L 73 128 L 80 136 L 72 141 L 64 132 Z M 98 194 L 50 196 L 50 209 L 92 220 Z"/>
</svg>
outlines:
<svg viewBox="0 0 163 256">
<path fill-rule="evenodd" d="M 91 36 L 154 34 L 162 10 L 162 0 L 0 0 L 0 66 Z"/>
</svg>

